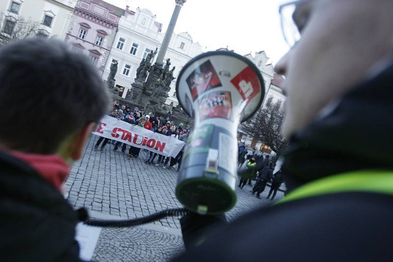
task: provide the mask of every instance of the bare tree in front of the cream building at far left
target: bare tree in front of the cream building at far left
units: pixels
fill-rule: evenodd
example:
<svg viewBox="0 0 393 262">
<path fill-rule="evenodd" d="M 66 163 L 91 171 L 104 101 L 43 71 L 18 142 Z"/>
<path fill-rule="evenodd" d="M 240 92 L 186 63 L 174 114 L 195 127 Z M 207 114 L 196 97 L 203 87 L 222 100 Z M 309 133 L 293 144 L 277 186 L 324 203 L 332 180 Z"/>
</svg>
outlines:
<svg viewBox="0 0 393 262">
<path fill-rule="evenodd" d="M 0 13 L 0 46 L 5 45 L 15 39 L 25 39 L 40 34 L 40 23 L 19 16 L 7 16 Z"/>
</svg>

